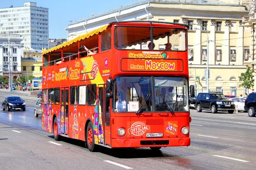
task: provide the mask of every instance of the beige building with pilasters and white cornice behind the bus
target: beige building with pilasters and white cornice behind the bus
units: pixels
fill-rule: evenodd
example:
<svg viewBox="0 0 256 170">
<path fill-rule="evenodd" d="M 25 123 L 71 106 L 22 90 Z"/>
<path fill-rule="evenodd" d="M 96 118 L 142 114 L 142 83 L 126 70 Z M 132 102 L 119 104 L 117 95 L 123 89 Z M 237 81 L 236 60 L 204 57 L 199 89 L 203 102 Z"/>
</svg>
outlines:
<svg viewBox="0 0 256 170">
<path fill-rule="evenodd" d="M 244 95 L 238 76 L 249 61 L 245 50 L 250 47 L 250 31 L 242 26 L 248 10 L 241 1 L 228 0 L 143 0 L 107 13 L 73 21 L 67 27 L 68 40 L 93 31 L 111 21 L 151 20 L 189 25 L 188 56 L 190 85 L 198 92 L 209 90 L 223 94 Z M 175 47 L 174 47 L 175 48 Z"/>
</svg>

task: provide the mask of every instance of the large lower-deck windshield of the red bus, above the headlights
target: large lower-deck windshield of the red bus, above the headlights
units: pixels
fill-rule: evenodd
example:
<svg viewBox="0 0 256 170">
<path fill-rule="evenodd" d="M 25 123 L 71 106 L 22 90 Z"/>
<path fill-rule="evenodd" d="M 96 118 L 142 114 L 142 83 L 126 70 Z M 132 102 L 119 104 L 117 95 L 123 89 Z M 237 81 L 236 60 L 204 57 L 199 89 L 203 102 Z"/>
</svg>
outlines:
<svg viewBox="0 0 256 170">
<path fill-rule="evenodd" d="M 117 77 L 116 112 L 184 112 L 188 107 L 188 81 L 183 77 Z"/>
</svg>

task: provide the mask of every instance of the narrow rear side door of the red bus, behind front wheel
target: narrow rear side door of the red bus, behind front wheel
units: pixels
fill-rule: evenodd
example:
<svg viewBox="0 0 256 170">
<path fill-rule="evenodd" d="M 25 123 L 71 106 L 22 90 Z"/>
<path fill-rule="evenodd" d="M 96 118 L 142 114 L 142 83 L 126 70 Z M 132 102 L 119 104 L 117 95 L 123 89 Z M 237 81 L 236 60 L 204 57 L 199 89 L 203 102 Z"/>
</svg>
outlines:
<svg viewBox="0 0 256 170">
<path fill-rule="evenodd" d="M 68 135 L 68 87 L 61 87 L 61 117 L 60 127 L 61 134 Z"/>
</svg>

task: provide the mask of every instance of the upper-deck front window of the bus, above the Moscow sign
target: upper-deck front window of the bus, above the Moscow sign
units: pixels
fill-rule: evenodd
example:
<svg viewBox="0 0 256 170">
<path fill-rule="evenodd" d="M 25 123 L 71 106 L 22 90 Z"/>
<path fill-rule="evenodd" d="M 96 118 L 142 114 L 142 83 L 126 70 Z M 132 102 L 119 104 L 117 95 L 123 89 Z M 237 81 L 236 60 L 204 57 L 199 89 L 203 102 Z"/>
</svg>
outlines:
<svg viewBox="0 0 256 170">
<path fill-rule="evenodd" d="M 115 29 L 115 46 L 119 50 L 185 51 L 186 31 L 181 28 L 119 26 Z"/>
</svg>

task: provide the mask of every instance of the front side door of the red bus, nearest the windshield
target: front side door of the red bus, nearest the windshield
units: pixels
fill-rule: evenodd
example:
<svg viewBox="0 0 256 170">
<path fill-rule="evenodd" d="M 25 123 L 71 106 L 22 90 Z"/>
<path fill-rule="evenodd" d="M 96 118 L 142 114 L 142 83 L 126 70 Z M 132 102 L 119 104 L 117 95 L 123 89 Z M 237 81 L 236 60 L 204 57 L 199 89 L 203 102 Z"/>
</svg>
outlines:
<svg viewBox="0 0 256 170">
<path fill-rule="evenodd" d="M 105 85 L 98 86 L 98 132 L 101 140 L 98 143 L 111 145 L 110 140 L 110 123 L 109 123 L 109 99 L 106 99 Z M 99 138 L 99 139 L 100 139 Z"/>
</svg>

